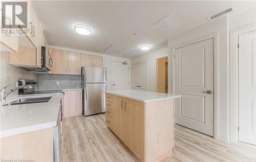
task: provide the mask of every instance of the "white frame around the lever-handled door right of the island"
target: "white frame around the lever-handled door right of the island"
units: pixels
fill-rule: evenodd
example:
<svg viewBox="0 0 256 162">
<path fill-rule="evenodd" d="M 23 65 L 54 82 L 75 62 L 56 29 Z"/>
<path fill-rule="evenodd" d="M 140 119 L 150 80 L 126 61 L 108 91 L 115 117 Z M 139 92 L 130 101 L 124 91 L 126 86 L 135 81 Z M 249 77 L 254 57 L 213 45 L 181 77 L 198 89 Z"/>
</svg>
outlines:
<svg viewBox="0 0 256 162">
<path fill-rule="evenodd" d="M 175 49 L 184 47 L 186 45 L 194 44 L 200 41 L 207 39 L 214 39 L 214 138 L 219 140 L 219 33 L 212 33 L 194 40 L 189 40 L 184 43 L 174 45 L 170 47 L 172 58 L 169 58 L 168 66 L 172 67 L 171 76 L 172 76 L 172 94 L 175 94 Z M 171 60 L 170 60 L 171 59 Z M 168 77 L 169 79 L 169 77 Z"/>
</svg>

